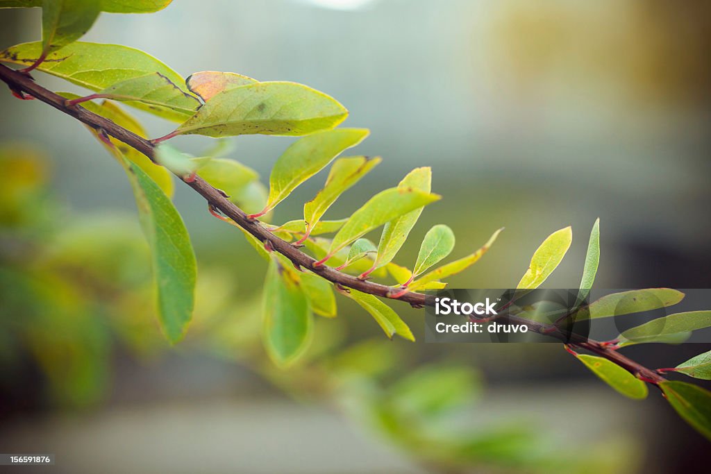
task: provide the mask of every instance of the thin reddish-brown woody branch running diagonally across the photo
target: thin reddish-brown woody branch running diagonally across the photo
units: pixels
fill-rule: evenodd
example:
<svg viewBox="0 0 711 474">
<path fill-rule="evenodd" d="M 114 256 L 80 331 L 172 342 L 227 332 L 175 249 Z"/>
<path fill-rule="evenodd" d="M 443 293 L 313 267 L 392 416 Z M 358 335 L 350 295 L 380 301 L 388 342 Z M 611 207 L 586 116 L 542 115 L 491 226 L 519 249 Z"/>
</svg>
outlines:
<svg viewBox="0 0 711 474">
<path fill-rule="evenodd" d="M 47 90 L 41 85 L 38 85 L 36 82 L 34 82 L 34 80 L 31 79 L 29 75 L 23 74 L 22 72 L 18 72 L 16 70 L 12 70 L 10 68 L 7 68 L 5 65 L 0 64 L 0 80 L 6 82 L 6 84 L 9 85 L 11 90 L 25 92 L 26 94 L 31 95 L 32 97 L 35 97 L 36 99 L 51 105 L 55 109 L 60 110 L 60 112 L 64 112 L 65 114 L 74 117 L 80 122 L 87 124 L 93 129 L 105 131 L 106 134 L 109 134 L 115 139 L 124 142 L 124 144 L 127 144 L 128 146 L 137 149 L 138 151 L 146 155 L 148 158 L 150 158 L 151 161 L 155 161 L 155 146 L 153 143 L 151 143 L 151 141 L 141 138 L 137 134 L 134 134 L 131 131 L 128 131 L 127 129 L 124 129 L 122 126 L 114 124 L 114 122 L 105 119 L 104 117 L 101 117 L 100 115 L 97 115 L 93 112 L 90 112 L 87 109 L 84 109 L 83 107 L 79 107 L 76 104 L 71 104 L 64 97 L 56 95 L 54 92 L 51 92 L 50 90 Z M 356 278 L 355 276 L 341 273 L 341 271 L 332 269 L 329 266 L 314 266 L 314 263 L 316 263 L 315 259 L 313 259 L 307 254 L 304 254 L 304 252 L 301 252 L 292 244 L 289 244 L 289 242 L 285 242 L 276 235 L 272 234 L 272 232 L 269 232 L 269 230 L 267 230 L 258 220 L 250 220 L 243 210 L 238 208 L 237 205 L 235 205 L 234 203 L 230 202 L 230 200 L 225 198 L 225 195 L 223 195 L 220 190 L 214 188 L 207 181 L 203 180 L 203 178 L 201 178 L 200 176 L 195 176 L 194 178 L 178 178 L 181 178 L 184 183 L 196 190 L 196 192 L 203 196 L 203 198 L 205 198 L 205 200 L 207 200 L 210 205 L 220 210 L 220 212 L 223 212 L 223 214 L 227 217 L 230 217 L 230 219 L 235 221 L 237 225 L 239 225 L 240 227 L 242 227 L 242 229 L 246 230 L 251 235 L 256 237 L 260 242 L 268 244 L 268 246 L 275 252 L 279 252 L 279 254 L 282 254 L 284 255 L 284 257 L 287 257 L 287 259 L 291 260 L 294 265 L 309 269 L 310 271 L 323 277 L 324 279 L 331 281 L 333 284 L 346 286 L 348 288 L 362 291 L 363 293 L 369 293 L 375 296 L 381 296 L 383 298 L 389 298 L 392 294 L 392 288 L 390 286 L 373 283 L 372 281 L 363 281 Z M 422 293 L 405 293 L 399 298 L 395 299 L 405 301 L 406 303 L 410 303 L 412 306 L 417 307 L 434 306 L 434 298 L 431 296 L 424 295 Z M 557 328 L 555 328 L 555 326 L 552 325 L 537 323 L 535 321 L 530 321 L 527 319 L 518 318 L 516 316 L 510 315 L 501 315 L 501 319 L 505 321 L 510 321 L 512 323 L 527 325 L 529 330 L 535 333 L 550 335 L 554 338 L 561 340 L 562 342 L 566 342 L 568 340 L 567 335 L 565 335 L 565 333 L 562 333 L 562 331 L 558 330 Z M 637 377 L 646 379 L 648 382 L 658 384 L 659 382 L 663 382 L 665 380 L 663 377 L 661 377 L 661 375 L 654 372 L 653 370 L 650 370 L 647 367 L 643 367 L 637 362 L 634 362 L 634 360 L 630 360 L 628 357 L 625 357 L 619 352 L 616 352 L 616 350 L 611 350 L 610 348 L 607 348 L 604 344 L 599 343 L 597 341 L 588 340 L 581 337 L 579 338 L 579 340 L 570 341 L 570 343 L 579 348 L 584 348 L 586 350 L 589 350 L 590 352 L 594 352 L 597 355 L 605 357 L 606 359 L 611 360 L 620 367 L 624 367 L 624 369 L 628 370 Z"/>
</svg>

